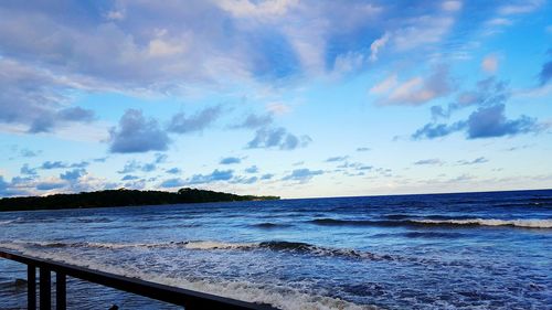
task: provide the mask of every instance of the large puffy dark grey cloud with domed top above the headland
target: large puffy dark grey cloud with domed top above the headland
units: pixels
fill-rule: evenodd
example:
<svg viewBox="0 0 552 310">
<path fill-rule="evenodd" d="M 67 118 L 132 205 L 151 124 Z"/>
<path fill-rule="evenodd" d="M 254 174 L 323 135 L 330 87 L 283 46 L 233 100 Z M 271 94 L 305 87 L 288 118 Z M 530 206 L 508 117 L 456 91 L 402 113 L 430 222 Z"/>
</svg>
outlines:
<svg viewBox="0 0 552 310">
<path fill-rule="evenodd" d="M 170 142 L 157 120 L 146 119 L 136 109 L 128 109 L 120 118 L 118 128 L 109 129 L 109 151 L 113 153 L 164 151 Z"/>
</svg>

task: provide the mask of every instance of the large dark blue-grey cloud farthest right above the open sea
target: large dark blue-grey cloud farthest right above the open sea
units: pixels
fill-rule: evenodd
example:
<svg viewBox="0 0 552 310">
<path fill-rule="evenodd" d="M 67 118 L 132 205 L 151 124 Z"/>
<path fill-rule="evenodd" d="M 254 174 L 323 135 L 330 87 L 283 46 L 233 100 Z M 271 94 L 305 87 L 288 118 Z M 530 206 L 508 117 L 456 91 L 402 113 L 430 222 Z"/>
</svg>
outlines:
<svg viewBox="0 0 552 310">
<path fill-rule="evenodd" d="M 468 138 L 491 138 L 535 132 L 540 129 L 537 119 L 522 115 L 507 119 L 505 105 L 481 107 L 468 118 Z"/>
</svg>

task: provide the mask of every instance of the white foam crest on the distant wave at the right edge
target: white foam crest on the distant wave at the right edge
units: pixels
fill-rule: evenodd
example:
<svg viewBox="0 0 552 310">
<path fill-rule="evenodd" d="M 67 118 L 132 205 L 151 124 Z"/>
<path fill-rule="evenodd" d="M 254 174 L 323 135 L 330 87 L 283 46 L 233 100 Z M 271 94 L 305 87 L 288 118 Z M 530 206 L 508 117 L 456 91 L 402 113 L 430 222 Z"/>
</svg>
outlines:
<svg viewBox="0 0 552 310">
<path fill-rule="evenodd" d="M 552 220 L 411 220 L 415 223 L 424 224 L 454 224 L 454 225 L 481 225 L 481 226 L 514 226 L 528 228 L 552 228 Z"/>
</svg>

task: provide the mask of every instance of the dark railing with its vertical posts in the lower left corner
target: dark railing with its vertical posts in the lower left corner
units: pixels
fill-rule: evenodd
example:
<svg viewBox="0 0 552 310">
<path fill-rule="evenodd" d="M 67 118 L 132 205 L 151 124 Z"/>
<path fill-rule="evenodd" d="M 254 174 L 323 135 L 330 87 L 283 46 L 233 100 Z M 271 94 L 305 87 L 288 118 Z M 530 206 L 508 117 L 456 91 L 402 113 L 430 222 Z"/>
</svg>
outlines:
<svg viewBox="0 0 552 310">
<path fill-rule="evenodd" d="M 170 287 L 140 279 L 123 277 L 84 267 L 35 258 L 10 250 L 0 249 L 0 257 L 25 264 L 26 269 L 26 300 L 28 309 L 36 309 L 36 268 L 39 268 L 39 302 L 40 309 L 52 307 L 51 275 L 55 272 L 55 307 L 66 309 L 66 278 L 73 277 L 88 282 L 103 285 L 118 290 L 140 295 L 151 299 L 182 306 L 187 310 L 194 309 L 256 309 L 275 310 L 269 304 L 245 302 L 215 295 Z"/>
</svg>

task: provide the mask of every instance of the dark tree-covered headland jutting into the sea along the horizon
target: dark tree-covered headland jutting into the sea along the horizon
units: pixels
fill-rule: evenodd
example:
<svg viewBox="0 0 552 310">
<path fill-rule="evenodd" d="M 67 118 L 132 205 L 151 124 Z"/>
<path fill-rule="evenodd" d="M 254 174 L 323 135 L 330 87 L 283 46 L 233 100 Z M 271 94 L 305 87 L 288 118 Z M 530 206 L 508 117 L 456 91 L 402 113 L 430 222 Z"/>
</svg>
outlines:
<svg viewBox="0 0 552 310">
<path fill-rule="evenodd" d="M 279 200 L 279 197 L 235 195 L 188 188 L 176 193 L 120 189 L 49 196 L 4 197 L 0 199 L 0 212 L 259 200 Z"/>
</svg>

